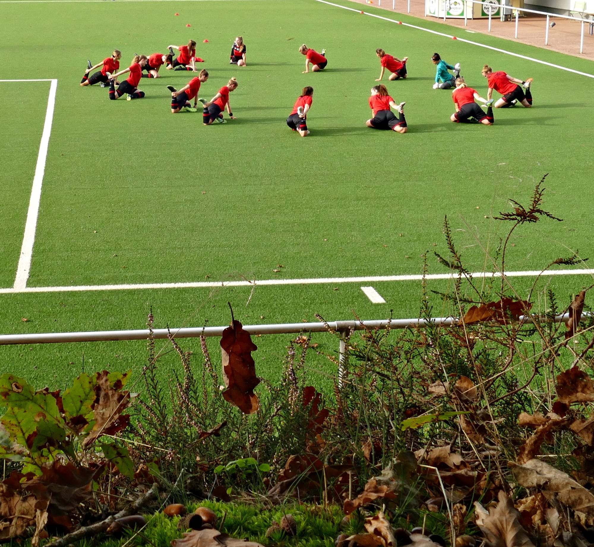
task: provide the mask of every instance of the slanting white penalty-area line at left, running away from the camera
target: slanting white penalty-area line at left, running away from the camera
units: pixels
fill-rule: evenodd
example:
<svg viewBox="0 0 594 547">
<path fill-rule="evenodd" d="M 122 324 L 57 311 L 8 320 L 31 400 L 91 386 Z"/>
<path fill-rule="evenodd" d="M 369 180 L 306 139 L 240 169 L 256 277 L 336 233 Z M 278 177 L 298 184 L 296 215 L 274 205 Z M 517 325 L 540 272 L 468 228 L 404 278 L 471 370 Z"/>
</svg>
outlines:
<svg viewBox="0 0 594 547">
<path fill-rule="evenodd" d="M 33 243 L 35 242 L 35 230 L 37 228 L 37 216 L 39 215 L 39 202 L 41 199 L 41 186 L 43 183 L 43 173 L 45 173 L 45 160 L 48 157 L 49 135 L 52 132 L 53 107 L 56 104 L 56 90 L 58 89 L 57 79 L 52 79 L 50 82 L 52 83 L 49 86 L 48 109 L 45 113 L 43 133 L 39 145 L 39 154 L 37 155 L 37 165 L 35 166 L 35 176 L 33 177 L 33 187 L 31 187 L 31 198 L 29 200 L 29 211 L 27 211 L 23 246 L 21 246 L 21 256 L 18 259 L 17 276 L 14 279 L 15 290 L 23 290 L 27 287 L 27 279 L 29 279 L 29 271 L 31 269 L 31 257 L 33 256 Z"/>
</svg>

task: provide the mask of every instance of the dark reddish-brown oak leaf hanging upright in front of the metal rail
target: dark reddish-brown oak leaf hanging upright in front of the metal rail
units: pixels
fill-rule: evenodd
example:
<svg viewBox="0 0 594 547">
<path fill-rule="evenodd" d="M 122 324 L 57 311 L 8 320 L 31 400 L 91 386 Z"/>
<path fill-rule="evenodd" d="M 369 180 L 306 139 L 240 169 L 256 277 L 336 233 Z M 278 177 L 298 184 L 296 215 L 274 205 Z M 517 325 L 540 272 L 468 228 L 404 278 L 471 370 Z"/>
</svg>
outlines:
<svg viewBox="0 0 594 547">
<path fill-rule="evenodd" d="M 256 367 L 252 351 L 258 346 L 249 338 L 239 321 L 223 330 L 220 345 L 223 357 L 223 379 L 227 389 L 223 398 L 238 406 L 244 414 L 254 414 L 260 408 L 254 389 L 260 383 L 256 376 Z"/>
</svg>

